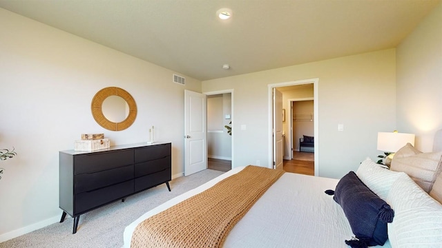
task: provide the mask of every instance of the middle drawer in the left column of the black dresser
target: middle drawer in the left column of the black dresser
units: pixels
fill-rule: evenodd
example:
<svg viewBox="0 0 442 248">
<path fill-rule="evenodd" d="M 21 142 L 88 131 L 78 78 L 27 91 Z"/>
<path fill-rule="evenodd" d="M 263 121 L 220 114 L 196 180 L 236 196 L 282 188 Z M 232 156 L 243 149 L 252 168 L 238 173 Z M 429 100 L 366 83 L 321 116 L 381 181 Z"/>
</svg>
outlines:
<svg viewBox="0 0 442 248">
<path fill-rule="evenodd" d="M 102 172 L 84 173 L 75 176 L 75 194 L 90 192 L 108 185 L 115 185 L 133 178 L 133 165 L 108 169 Z"/>
</svg>

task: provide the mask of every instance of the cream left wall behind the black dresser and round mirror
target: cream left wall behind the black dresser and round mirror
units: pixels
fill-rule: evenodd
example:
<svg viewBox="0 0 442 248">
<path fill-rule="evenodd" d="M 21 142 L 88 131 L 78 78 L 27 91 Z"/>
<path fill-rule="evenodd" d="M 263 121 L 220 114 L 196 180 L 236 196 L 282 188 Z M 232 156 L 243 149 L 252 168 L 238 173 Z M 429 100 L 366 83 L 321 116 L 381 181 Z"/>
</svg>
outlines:
<svg viewBox="0 0 442 248">
<path fill-rule="evenodd" d="M 0 242 L 56 223 L 59 209 L 58 152 L 73 149 L 82 133 L 104 133 L 111 144 L 155 138 L 172 143 L 172 174 L 183 172 L 184 89 L 201 82 L 0 8 L 0 149 L 17 157 L 0 161 Z M 137 103 L 127 130 L 111 132 L 90 113 L 103 87 L 122 87 Z M 66 230 L 66 234 L 70 231 Z"/>
</svg>

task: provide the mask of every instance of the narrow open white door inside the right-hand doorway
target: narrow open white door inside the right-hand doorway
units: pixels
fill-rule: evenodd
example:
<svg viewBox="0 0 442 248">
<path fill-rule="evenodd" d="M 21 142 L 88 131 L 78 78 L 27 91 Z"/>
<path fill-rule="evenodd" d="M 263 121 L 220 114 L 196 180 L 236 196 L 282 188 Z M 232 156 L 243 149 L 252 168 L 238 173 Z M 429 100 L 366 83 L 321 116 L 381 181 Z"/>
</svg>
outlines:
<svg viewBox="0 0 442 248">
<path fill-rule="evenodd" d="M 273 169 L 282 169 L 284 151 L 282 147 L 282 93 L 273 88 Z"/>
</svg>

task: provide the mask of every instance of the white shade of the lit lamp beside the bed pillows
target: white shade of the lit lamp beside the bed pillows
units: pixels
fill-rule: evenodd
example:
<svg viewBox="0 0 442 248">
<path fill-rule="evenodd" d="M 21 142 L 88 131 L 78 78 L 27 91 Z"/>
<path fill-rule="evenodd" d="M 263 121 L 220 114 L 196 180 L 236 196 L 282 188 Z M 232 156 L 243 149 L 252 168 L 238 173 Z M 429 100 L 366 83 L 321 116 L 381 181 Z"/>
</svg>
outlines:
<svg viewBox="0 0 442 248">
<path fill-rule="evenodd" d="M 397 152 L 404 145 L 414 145 L 414 134 L 398 132 L 378 132 L 378 150 L 383 152 Z"/>
</svg>

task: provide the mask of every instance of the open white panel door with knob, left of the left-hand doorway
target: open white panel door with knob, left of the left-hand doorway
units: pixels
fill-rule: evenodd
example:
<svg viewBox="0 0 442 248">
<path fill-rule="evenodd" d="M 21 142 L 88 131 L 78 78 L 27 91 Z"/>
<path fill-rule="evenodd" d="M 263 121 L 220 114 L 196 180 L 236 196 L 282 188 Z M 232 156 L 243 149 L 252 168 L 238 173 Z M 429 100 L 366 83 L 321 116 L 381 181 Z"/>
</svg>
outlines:
<svg viewBox="0 0 442 248">
<path fill-rule="evenodd" d="M 207 169 L 206 95 L 184 90 L 184 176 Z"/>
</svg>

